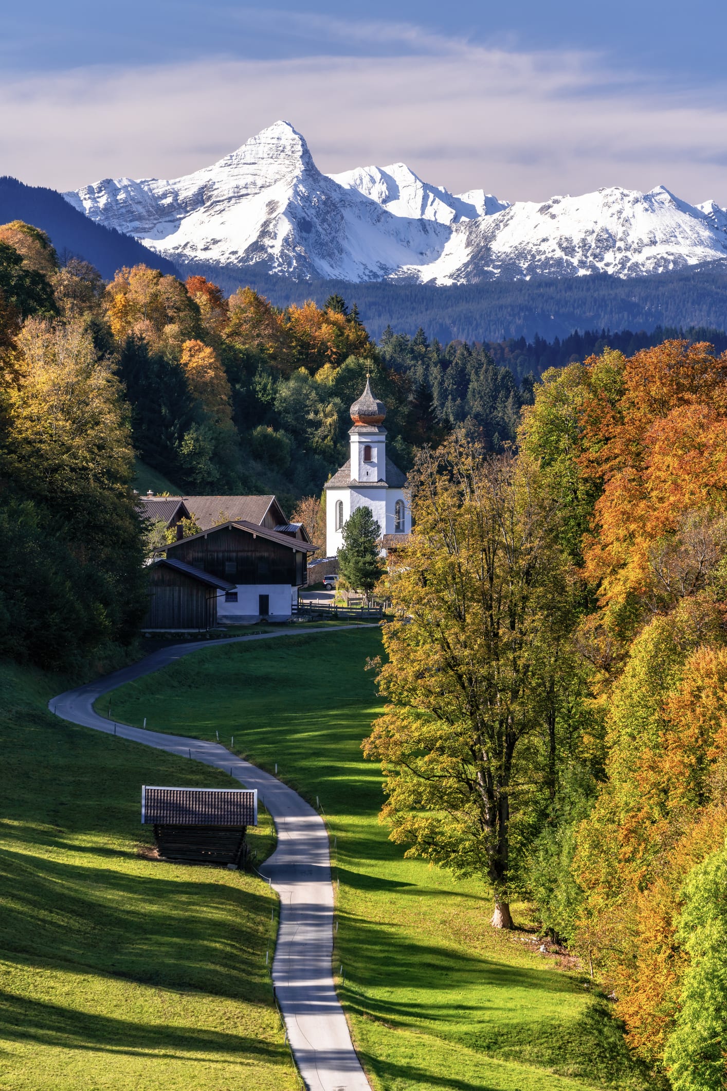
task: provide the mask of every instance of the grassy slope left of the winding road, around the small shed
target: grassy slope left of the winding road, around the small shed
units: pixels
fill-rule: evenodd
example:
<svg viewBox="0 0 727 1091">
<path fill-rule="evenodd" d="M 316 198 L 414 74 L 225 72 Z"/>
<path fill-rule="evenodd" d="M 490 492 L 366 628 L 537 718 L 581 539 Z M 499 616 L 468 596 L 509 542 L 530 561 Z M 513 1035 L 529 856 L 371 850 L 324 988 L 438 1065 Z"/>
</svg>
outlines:
<svg viewBox="0 0 727 1091">
<path fill-rule="evenodd" d="M 229 778 L 56 719 L 63 687 L 0 664 L 0 1089 L 292 1091 L 267 885 L 140 855 L 143 782 Z"/>
</svg>

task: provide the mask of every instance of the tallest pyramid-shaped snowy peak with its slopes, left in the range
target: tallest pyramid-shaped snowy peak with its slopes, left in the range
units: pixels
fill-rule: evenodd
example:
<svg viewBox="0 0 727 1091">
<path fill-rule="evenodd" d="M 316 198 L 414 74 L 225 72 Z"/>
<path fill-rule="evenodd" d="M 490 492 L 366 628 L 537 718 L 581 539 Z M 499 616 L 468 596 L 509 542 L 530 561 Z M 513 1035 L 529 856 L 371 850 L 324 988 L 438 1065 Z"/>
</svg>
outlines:
<svg viewBox="0 0 727 1091">
<path fill-rule="evenodd" d="M 184 178 L 106 179 L 64 195 L 178 264 L 368 280 L 433 261 L 449 238 L 445 225 L 395 217 L 322 175 L 282 121 Z"/>
</svg>

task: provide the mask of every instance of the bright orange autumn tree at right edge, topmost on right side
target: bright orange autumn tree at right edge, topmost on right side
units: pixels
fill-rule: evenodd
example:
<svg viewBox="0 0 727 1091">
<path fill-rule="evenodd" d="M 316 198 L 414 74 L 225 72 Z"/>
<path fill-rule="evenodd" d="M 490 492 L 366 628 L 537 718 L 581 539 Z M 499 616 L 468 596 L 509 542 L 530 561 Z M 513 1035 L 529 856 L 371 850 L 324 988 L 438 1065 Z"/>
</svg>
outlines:
<svg viewBox="0 0 727 1091">
<path fill-rule="evenodd" d="M 653 552 L 687 513 L 722 512 L 727 496 L 727 356 L 665 341 L 625 360 L 620 380 L 585 399 L 579 459 L 602 489 L 585 572 L 615 606 L 651 592 Z"/>
</svg>

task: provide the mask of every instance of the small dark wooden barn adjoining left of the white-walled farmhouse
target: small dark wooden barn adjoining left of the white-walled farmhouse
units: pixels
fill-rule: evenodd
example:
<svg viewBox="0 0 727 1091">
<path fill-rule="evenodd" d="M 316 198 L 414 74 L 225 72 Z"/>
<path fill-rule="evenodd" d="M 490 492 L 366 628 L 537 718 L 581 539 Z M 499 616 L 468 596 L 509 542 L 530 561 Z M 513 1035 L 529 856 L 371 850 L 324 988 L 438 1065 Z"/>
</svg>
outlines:
<svg viewBox="0 0 727 1091">
<path fill-rule="evenodd" d="M 142 628 L 207 630 L 217 625 L 220 591 L 234 584 L 174 558 L 161 558 L 147 568 L 149 606 Z"/>
</svg>

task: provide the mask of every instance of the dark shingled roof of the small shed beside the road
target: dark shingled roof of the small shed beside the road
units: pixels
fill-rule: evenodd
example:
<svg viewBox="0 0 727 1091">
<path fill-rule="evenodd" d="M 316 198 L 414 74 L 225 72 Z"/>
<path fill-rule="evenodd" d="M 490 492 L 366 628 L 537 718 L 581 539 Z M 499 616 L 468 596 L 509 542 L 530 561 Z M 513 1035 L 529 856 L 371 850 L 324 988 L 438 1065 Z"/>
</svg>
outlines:
<svg viewBox="0 0 727 1091">
<path fill-rule="evenodd" d="M 142 788 L 142 824 L 256 826 L 257 792 L 238 788 Z"/>
</svg>

